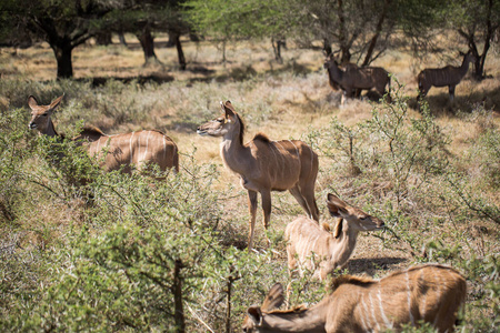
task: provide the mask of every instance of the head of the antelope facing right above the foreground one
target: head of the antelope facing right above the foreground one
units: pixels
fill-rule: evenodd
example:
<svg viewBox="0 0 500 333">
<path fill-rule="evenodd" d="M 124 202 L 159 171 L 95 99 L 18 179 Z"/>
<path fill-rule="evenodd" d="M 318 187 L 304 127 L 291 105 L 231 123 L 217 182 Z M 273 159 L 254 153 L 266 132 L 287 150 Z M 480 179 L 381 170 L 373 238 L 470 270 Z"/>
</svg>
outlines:
<svg viewBox="0 0 500 333">
<path fill-rule="evenodd" d="M 383 221 L 364 213 L 362 210 L 351 206 L 333 194 L 328 194 L 328 210 L 333 218 L 341 218 L 333 231 L 333 236 L 338 238 L 342 231 L 342 219 L 344 219 L 350 228 L 357 231 L 371 231 L 383 228 Z"/>
</svg>

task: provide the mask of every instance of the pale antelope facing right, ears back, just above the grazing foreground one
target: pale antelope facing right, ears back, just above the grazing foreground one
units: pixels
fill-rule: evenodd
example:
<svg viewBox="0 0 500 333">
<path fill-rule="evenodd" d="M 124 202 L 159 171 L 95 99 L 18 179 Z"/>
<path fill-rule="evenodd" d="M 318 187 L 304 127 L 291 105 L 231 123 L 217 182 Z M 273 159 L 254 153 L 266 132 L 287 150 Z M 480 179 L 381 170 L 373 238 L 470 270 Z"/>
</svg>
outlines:
<svg viewBox="0 0 500 333">
<path fill-rule="evenodd" d="M 328 210 L 337 220 L 333 234 L 307 218 L 298 218 L 287 225 L 288 266 L 290 272 L 306 266 L 313 276 L 324 280 L 336 269 L 342 269 L 356 248 L 360 231 L 381 229 L 383 221 L 328 194 Z M 318 263 L 318 264 L 317 264 Z"/>
</svg>

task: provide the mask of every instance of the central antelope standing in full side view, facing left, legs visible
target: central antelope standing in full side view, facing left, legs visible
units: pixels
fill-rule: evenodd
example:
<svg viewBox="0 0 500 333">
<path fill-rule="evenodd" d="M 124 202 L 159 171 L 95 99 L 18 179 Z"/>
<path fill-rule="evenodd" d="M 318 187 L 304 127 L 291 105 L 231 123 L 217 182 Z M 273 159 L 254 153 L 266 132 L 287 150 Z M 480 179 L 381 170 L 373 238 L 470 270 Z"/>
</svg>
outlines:
<svg viewBox="0 0 500 333">
<path fill-rule="evenodd" d="M 262 199 L 266 229 L 271 216 L 271 191 L 289 190 L 308 216 L 318 221 L 314 200 L 318 155 L 302 141 L 271 141 L 262 133 L 243 143 L 244 124 L 241 118 L 230 101 L 221 102 L 221 108 L 224 113 L 200 125 L 197 132 L 222 138 L 222 161 L 226 168 L 240 175 L 241 185 L 248 190 L 251 214 L 249 250 L 253 244 L 257 193 Z"/>
</svg>

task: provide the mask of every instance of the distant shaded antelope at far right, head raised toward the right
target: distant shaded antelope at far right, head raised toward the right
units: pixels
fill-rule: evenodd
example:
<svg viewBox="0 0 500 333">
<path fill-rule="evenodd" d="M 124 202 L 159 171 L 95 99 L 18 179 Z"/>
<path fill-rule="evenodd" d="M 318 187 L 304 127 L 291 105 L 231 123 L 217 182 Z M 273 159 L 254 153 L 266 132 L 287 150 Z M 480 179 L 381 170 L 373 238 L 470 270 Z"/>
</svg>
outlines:
<svg viewBox="0 0 500 333">
<path fill-rule="evenodd" d="M 431 87 L 448 85 L 450 92 L 450 101 L 454 98 L 454 88 L 462 81 L 469 70 L 469 63 L 476 61 L 476 57 L 469 51 L 463 56 L 460 67 L 447 65 L 443 68 L 427 68 L 419 73 L 417 80 L 419 82 L 419 95 L 417 101 L 424 98 Z"/>
</svg>

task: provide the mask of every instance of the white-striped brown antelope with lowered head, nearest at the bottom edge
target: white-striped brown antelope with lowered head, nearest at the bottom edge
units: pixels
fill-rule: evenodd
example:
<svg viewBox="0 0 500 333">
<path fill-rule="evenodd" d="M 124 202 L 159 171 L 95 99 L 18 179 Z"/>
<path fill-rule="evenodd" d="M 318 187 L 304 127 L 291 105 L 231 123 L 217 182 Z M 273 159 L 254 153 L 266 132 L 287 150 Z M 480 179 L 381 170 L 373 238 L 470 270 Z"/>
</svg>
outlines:
<svg viewBox="0 0 500 333">
<path fill-rule="evenodd" d="M 427 264 L 394 272 L 381 280 L 343 275 L 331 292 L 311 307 L 277 310 L 283 287 L 271 287 L 262 306 L 247 310 L 243 332 L 391 332 L 402 325 L 430 323 L 452 332 L 463 305 L 467 284 L 456 270 Z"/>
</svg>

